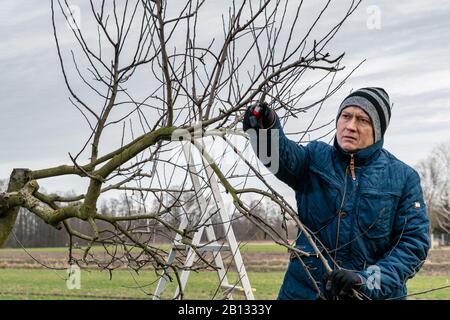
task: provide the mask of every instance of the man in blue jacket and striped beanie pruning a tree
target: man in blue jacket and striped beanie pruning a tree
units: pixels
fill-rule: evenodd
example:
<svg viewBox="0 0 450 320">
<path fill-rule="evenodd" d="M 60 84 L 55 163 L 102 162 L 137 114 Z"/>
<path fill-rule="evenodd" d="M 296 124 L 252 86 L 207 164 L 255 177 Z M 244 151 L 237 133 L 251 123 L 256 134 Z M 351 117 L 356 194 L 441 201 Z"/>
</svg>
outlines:
<svg viewBox="0 0 450 320">
<path fill-rule="evenodd" d="M 342 299 L 352 289 L 369 299 L 406 296 L 406 281 L 427 256 L 429 222 L 418 174 L 383 149 L 390 118 L 384 89 L 359 89 L 339 107 L 334 144 L 305 147 L 286 138 L 266 104 L 247 109 L 244 130 L 279 130 L 275 175 L 295 190 L 300 220 L 333 269 L 325 270 L 299 232 L 296 247 L 311 253 L 301 259 L 317 286 L 293 257 L 279 299 Z"/>
</svg>

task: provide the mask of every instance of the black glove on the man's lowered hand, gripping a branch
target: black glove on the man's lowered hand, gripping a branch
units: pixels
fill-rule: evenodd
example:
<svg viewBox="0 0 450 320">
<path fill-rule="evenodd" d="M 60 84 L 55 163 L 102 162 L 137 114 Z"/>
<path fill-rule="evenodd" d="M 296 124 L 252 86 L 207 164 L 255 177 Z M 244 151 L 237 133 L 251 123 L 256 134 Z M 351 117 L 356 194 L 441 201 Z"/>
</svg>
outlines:
<svg viewBox="0 0 450 320">
<path fill-rule="evenodd" d="M 354 271 L 333 270 L 328 276 L 326 289 L 336 297 L 348 296 L 352 289 L 359 289 L 362 283 L 362 278 Z"/>
</svg>

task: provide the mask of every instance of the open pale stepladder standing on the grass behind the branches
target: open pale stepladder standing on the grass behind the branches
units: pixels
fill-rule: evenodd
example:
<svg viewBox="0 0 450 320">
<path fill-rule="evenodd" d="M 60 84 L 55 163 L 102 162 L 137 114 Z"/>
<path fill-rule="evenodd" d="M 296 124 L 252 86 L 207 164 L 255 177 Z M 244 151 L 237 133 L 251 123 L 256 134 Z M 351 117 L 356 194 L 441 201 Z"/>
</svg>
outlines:
<svg viewBox="0 0 450 320">
<path fill-rule="evenodd" d="M 194 165 L 193 152 L 195 152 L 195 149 L 189 142 L 182 143 L 189 176 L 192 181 L 193 189 L 196 192 L 198 210 L 200 210 L 199 227 L 195 230 L 189 244 L 186 244 L 186 241 L 183 241 L 183 237 L 180 234 L 177 233 L 175 235 L 167 256 L 166 267 L 158 280 L 153 299 L 159 300 L 163 297 L 163 293 L 170 279 L 169 266 L 175 263 L 177 256 L 181 254 L 184 262 L 179 273 L 179 280 L 177 281 L 178 284 L 173 298 L 181 299 L 184 296 L 184 294 L 182 295 L 181 293 L 185 292 L 189 275 L 194 267 L 196 259 L 198 259 L 199 255 L 210 253 L 210 259 L 212 255 L 211 262 L 217 272 L 218 285 L 222 293 L 221 295 L 218 295 L 217 298 L 232 300 L 233 294 L 242 294 L 245 299 L 254 300 L 254 289 L 252 289 L 250 285 L 249 276 L 244 265 L 239 244 L 232 228 L 231 213 L 225 206 L 214 170 L 212 170 L 207 162 L 203 161 L 203 169 L 206 174 L 209 188 L 211 189 L 210 194 L 212 197 L 212 199 L 208 199 L 212 201 L 207 201 L 204 192 L 202 192 L 203 186 L 201 185 L 198 169 Z M 216 206 L 216 210 L 211 210 L 211 202 Z M 215 223 L 212 223 L 213 215 L 216 216 Z M 218 222 L 217 219 L 219 219 Z M 182 215 L 179 230 L 184 230 L 188 226 L 188 223 L 189 217 L 187 214 Z M 213 225 L 223 228 L 222 231 L 224 236 L 221 237 L 221 239 L 216 237 Z M 205 238 L 206 241 L 202 243 L 201 241 Z M 229 270 L 231 270 L 230 266 L 225 265 L 222 256 L 222 254 L 225 253 L 227 256 L 231 257 L 231 263 L 234 263 L 235 267 L 235 271 L 233 272 L 237 273 L 237 281 L 233 281 L 233 283 L 230 283 L 228 277 Z"/>
</svg>

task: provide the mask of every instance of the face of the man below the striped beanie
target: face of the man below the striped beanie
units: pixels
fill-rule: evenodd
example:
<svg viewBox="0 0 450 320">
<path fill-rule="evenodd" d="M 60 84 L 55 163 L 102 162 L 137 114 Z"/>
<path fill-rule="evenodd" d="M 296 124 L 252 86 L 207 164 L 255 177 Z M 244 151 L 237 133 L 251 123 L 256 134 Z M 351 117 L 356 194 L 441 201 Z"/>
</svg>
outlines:
<svg viewBox="0 0 450 320">
<path fill-rule="evenodd" d="M 348 153 L 355 153 L 372 145 L 372 121 L 367 113 L 356 106 L 342 110 L 337 121 L 337 141 Z"/>
</svg>

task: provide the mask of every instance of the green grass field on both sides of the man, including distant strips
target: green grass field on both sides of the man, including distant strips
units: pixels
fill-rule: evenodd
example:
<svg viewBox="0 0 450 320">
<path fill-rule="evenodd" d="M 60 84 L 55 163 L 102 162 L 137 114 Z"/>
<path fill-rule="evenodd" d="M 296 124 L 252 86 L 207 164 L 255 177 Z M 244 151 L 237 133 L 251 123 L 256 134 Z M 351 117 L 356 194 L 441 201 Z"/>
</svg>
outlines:
<svg viewBox="0 0 450 320">
<path fill-rule="evenodd" d="M 0 250 L 0 260 L 5 252 L 15 254 L 16 249 Z M 242 250 L 243 255 L 249 253 L 285 253 L 285 249 L 271 244 L 251 244 Z M 17 253 L 21 251 L 18 250 Z M 32 253 L 64 252 L 64 249 L 32 249 Z M 261 300 L 275 299 L 284 276 L 284 270 L 250 271 L 252 287 L 256 289 L 255 297 Z M 236 273 L 230 272 L 230 283 L 236 281 Z M 0 269 L 0 299 L 150 299 L 156 286 L 156 276 L 151 271 L 136 274 L 127 270 L 116 270 L 109 279 L 109 273 L 98 270 L 81 271 L 81 288 L 68 289 L 65 270 L 49 270 L 44 268 Z M 450 275 L 419 274 L 408 282 L 409 294 L 450 286 Z M 217 290 L 218 278 L 215 272 L 191 272 L 186 291 L 187 299 L 222 299 Z M 166 290 L 164 298 L 171 298 L 174 285 Z M 234 294 L 235 299 L 239 295 Z M 450 288 L 412 295 L 410 299 L 447 299 L 450 300 Z"/>
</svg>

